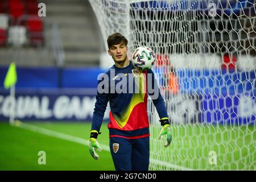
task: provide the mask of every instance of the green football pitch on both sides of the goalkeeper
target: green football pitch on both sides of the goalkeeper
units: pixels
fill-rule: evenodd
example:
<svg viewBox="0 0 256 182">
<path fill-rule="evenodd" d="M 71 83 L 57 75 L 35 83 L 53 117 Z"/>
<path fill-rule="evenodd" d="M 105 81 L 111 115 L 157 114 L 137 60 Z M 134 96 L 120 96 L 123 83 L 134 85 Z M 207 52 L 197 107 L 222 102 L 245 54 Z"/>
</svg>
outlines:
<svg viewBox="0 0 256 182">
<path fill-rule="evenodd" d="M 114 164 L 109 152 L 109 131 L 106 122 L 102 123 L 102 134 L 98 136 L 101 147 L 104 149 L 98 153 L 100 160 L 94 160 L 89 153 L 90 122 L 26 122 L 18 124 L 18 127 L 16 127 L 10 126 L 8 122 L 0 123 L 0 170 L 114 170 Z M 237 167 L 255 169 L 255 133 L 253 126 L 249 127 L 249 130 L 253 131 L 253 135 L 245 137 L 243 140 L 233 140 L 233 143 L 229 141 L 228 145 L 225 144 L 225 139 L 228 139 L 228 137 L 235 138 L 237 135 L 241 135 L 245 129 L 226 130 L 228 132 L 218 133 L 214 127 L 173 127 L 173 141 L 168 148 L 164 148 L 163 143 L 158 141 L 158 129 L 157 127 L 151 127 L 150 155 L 151 158 L 158 161 L 154 165 L 159 165 L 156 168 L 154 165 L 150 165 L 151 170 L 172 169 L 161 166 L 159 161 L 160 163 L 163 162 L 163 164 L 173 162 L 185 167 L 192 162 L 193 165 L 190 166 L 195 167 L 195 169 L 225 170 L 236 169 Z M 219 130 L 225 131 L 221 128 Z M 213 135 L 202 135 L 203 133 L 212 133 Z M 220 145 L 214 148 L 214 142 L 220 143 Z M 250 146 L 249 150 L 238 150 L 233 155 L 229 155 L 225 161 L 229 163 L 242 156 L 243 160 L 250 159 L 253 163 L 250 163 L 249 166 L 243 166 L 241 163 L 233 164 L 232 166 L 224 165 L 222 168 L 207 168 L 207 164 L 205 164 L 209 151 L 209 148 L 205 146 L 207 143 L 213 143 L 213 150 L 218 151 L 218 147 L 220 147 L 221 152 L 227 154 L 232 153 L 234 144 L 237 146 L 246 144 L 246 146 Z M 154 150 L 152 150 L 152 147 L 154 147 Z M 180 150 L 181 147 L 183 149 Z M 40 151 L 45 152 L 44 159 L 46 164 L 39 164 L 38 162 L 41 157 L 39 155 Z M 163 155 L 164 158 L 159 154 Z M 188 159 L 189 156 L 191 156 L 192 160 Z M 199 158 L 201 156 L 200 163 L 198 163 L 199 160 L 197 159 L 193 160 L 197 156 Z M 203 160 L 202 156 L 206 156 L 206 158 Z"/>
</svg>

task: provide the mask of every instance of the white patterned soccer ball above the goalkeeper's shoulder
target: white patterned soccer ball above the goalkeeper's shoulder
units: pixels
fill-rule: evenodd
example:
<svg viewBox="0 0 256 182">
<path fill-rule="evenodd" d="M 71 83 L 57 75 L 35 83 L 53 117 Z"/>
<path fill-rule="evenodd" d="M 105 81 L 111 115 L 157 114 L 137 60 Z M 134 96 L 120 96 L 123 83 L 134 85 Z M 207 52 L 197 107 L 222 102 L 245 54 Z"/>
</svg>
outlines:
<svg viewBox="0 0 256 182">
<path fill-rule="evenodd" d="M 131 56 L 133 65 L 138 69 L 151 69 L 155 64 L 155 53 L 151 48 L 143 46 L 133 51 Z"/>
</svg>

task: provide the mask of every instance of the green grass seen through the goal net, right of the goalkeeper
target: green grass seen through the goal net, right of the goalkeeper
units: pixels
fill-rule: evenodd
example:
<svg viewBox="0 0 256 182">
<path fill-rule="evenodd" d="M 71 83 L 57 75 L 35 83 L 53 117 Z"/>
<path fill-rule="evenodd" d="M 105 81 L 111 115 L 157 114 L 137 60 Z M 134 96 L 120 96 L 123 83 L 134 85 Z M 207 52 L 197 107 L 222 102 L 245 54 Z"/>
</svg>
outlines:
<svg viewBox="0 0 256 182">
<path fill-rule="evenodd" d="M 151 140 L 159 128 L 151 127 Z M 174 125 L 172 143 L 151 142 L 151 157 L 196 170 L 255 170 L 254 126 Z M 152 144 L 154 143 L 154 144 Z M 154 148 L 163 148 L 154 150 Z M 216 164 L 210 164 L 210 151 L 216 154 Z M 151 167 L 154 167 L 151 165 Z M 158 166 L 158 169 L 171 169 Z"/>
</svg>

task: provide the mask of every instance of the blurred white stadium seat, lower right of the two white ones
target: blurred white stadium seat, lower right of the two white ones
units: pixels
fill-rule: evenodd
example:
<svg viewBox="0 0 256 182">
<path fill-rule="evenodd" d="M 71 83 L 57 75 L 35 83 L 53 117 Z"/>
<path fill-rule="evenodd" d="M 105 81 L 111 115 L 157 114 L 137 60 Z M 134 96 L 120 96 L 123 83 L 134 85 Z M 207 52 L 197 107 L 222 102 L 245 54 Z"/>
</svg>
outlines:
<svg viewBox="0 0 256 182">
<path fill-rule="evenodd" d="M 9 28 L 8 43 L 19 47 L 27 43 L 26 27 L 12 26 Z"/>
</svg>

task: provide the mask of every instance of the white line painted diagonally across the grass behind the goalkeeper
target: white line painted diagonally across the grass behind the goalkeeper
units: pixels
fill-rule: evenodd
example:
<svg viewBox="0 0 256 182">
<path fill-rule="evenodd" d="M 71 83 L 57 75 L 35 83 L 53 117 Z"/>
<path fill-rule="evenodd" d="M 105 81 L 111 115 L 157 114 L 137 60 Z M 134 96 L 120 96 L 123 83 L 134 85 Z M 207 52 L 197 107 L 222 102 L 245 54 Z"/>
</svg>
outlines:
<svg viewBox="0 0 256 182">
<path fill-rule="evenodd" d="M 82 139 L 82 138 L 79 138 L 79 137 L 74 137 L 74 136 L 68 135 L 68 134 L 63 134 L 63 133 L 60 133 L 60 132 L 57 132 L 57 131 L 44 129 L 43 127 L 30 125 L 28 123 L 15 121 L 15 124 L 13 126 L 20 127 L 22 129 L 26 129 L 26 130 L 30 130 L 30 131 L 34 131 L 34 132 L 37 132 L 37 133 L 41 133 L 41 134 L 44 134 L 44 135 L 48 135 L 48 136 L 51 136 L 51 137 L 55 137 L 55 138 L 59 138 L 59 139 L 63 139 L 63 140 L 68 140 L 70 142 L 83 144 L 85 146 L 89 146 L 89 140 L 85 140 L 85 139 Z M 109 146 L 106 146 L 105 144 L 101 144 L 101 148 L 102 148 L 102 150 L 110 152 Z M 167 162 L 163 162 L 162 160 L 157 160 L 157 159 L 152 159 L 152 158 L 150 158 L 150 162 L 152 162 L 154 164 L 158 164 L 160 166 L 165 166 L 165 167 L 168 167 L 168 168 L 174 168 L 174 169 L 179 169 L 179 170 L 181 169 L 181 170 L 184 170 L 184 171 L 193 170 L 191 168 L 186 168 L 186 167 L 183 167 L 183 166 L 177 166 L 175 164 L 170 164 L 170 163 L 167 163 Z"/>
</svg>

